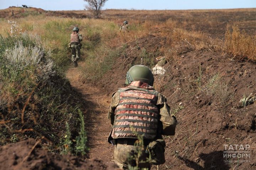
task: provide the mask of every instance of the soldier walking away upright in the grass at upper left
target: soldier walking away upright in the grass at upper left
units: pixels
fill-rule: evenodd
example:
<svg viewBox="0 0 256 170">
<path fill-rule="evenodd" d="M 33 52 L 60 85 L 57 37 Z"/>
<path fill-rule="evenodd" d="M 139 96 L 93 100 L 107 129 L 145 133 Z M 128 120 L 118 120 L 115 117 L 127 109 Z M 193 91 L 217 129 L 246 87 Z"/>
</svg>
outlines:
<svg viewBox="0 0 256 170">
<path fill-rule="evenodd" d="M 72 51 L 72 57 L 71 60 L 75 67 L 78 66 L 77 61 L 80 58 L 80 49 L 82 47 L 81 41 L 82 41 L 82 35 L 78 34 L 79 28 L 75 27 L 73 29 L 72 34 L 70 35 L 70 44 L 69 48 L 71 48 Z"/>
</svg>

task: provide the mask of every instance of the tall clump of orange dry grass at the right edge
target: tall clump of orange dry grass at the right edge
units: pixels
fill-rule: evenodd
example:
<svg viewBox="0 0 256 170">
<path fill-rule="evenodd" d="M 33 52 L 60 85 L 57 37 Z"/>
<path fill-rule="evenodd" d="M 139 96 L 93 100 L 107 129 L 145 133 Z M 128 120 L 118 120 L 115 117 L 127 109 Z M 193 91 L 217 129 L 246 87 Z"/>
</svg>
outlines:
<svg viewBox="0 0 256 170">
<path fill-rule="evenodd" d="M 225 34 L 225 50 L 235 58 L 248 58 L 256 60 L 256 36 L 253 38 L 247 35 L 245 30 L 240 30 L 238 26 L 233 26 L 232 30 L 227 30 Z"/>
</svg>

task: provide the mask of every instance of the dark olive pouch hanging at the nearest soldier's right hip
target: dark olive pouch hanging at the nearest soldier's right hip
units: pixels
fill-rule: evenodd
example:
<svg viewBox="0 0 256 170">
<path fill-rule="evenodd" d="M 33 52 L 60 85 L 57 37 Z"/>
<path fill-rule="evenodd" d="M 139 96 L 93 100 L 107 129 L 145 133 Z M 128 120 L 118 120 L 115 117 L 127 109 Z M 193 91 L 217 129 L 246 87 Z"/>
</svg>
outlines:
<svg viewBox="0 0 256 170">
<path fill-rule="evenodd" d="M 146 148 L 146 153 L 150 155 L 150 163 L 153 165 L 161 165 L 165 163 L 165 141 L 158 139 L 150 142 Z"/>
</svg>

